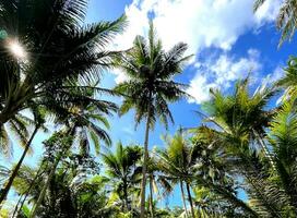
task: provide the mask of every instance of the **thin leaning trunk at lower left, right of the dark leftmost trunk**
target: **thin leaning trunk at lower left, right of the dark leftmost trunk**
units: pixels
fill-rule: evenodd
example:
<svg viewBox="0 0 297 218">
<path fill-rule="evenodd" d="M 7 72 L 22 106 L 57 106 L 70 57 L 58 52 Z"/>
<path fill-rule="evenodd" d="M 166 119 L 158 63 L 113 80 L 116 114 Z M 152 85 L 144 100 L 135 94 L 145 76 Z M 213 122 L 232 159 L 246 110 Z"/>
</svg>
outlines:
<svg viewBox="0 0 297 218">
<path fill-rule="evenodd" d="M 47 187 L 48 187 L 48 185 L 49 185 L 49 183 L 50 183 L 50 181 L 51 181 L 51 179 L 52 179 L 52 177 L 54 177 L 54 174 L 56 172 L 58 164 L 61 160 L 61 157 L 62 157 L 62 154 L 60 154 L 57 157 L 56 161 L 54 162 L 52 168 L 50 170 L 50 173 L 49 173 L 49 175 L 47 178 L 47 181 L 46 181 L 45 185 L 43 186 L 43 190 L 41 190 L 41 192 L 40 192 L 40 194 L 38 196 L 38 199 L 37 199 L 36 204 L 34 205 L 34 207 L 33 207 L 33 209 L 31 211 L 29 218 L 34 218 L 36 216 L 36 213 L 38 211 L 38 208 L 39 208 L 39 206 L 41 205 L 41 203 L 43 203 L 43 201 L 45 198 Z"/>
</svg>

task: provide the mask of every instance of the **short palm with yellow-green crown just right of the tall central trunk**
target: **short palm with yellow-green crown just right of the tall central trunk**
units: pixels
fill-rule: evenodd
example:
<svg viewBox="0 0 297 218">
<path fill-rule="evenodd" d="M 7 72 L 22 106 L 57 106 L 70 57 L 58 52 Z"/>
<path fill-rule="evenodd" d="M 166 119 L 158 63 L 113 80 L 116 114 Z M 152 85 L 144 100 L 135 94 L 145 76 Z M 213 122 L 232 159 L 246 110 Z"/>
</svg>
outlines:
<svg viewBox="0 0 297 218">
<path fill-rule="evenodd" d="M 174 137 L 166 136 L 165 142 L 167 148 L 165 150 L 158 150 L 157 153 L 159 169 L 168 179 L 171 178 L 173 182 L 180 183 L 183 207 L 188 216 L 183 191 L 183 183 L 186 183 L 188 199 L 191 206 L 191 216 L 194 218 L 190 183 L 194 175 L 195 149 L 185 140 L 181 130 L 179 130 Z"/>
</svg>

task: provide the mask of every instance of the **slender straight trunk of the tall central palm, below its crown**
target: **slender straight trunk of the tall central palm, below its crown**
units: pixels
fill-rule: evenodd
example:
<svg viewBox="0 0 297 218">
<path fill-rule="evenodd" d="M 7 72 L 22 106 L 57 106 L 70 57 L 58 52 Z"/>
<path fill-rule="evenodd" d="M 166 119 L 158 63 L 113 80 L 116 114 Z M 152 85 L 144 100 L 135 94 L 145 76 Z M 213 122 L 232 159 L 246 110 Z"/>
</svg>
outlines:
<svg viewBox="0 0 297 218">
<path fill-rule="evenodd" d="M 146 186 L 146 165 L 147 165 L 147 159 L 148 159 L 150 120 L 151 120 L 151 105 L 148 105 L 148 108 L 147 108 L 147 120 L 146 120 L 145 137 L 144 137 L 144 156 L 143 156 L 143 165 L 142 165 L 140 218 L 145 217 L 145 186 Z"/>
</svg>

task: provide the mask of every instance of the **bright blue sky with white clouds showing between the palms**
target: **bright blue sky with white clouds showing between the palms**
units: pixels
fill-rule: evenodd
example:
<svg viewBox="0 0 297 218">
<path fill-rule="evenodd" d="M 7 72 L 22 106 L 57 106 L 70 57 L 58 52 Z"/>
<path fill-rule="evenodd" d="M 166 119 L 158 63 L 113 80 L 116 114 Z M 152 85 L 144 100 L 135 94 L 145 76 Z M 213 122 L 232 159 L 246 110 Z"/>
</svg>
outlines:
<svg viewBox="0 0 297 218">
<path fill-rule="evenodd" d="M 285 43 L 280 49 L 280 33 L 274 23 L 280 7 L 278 0 L 268 0 L 257 12 L 252 13 L 252 0 L 91 0 L 85 23 L 115 20 L 126 13 L 129 26 L 116 37 L 111 49 L 129 48 L 136 35 L 145 35 L 148 17 L 152 17 L 158 36 L 165 48 L 179 41 L 189 45 L 188 53 L 193 60 L 177 81 L 189 84 L 187 89 L 193 99 L 182 99 L 170 105 L 175 125 L 168 133 L 179 126 L 197 126 L 200 119 L 193 111 L 210 98 L 209 89 L 219 88 L 230 92 L 238 78 L 251 72 L 252 86 L 272 83 L 282 76 L 282 68 L 289 55 L 295 55 L 296 43 Z M 122 72 L 105 72 L 102 86 L 112 87 L 124 80 Z M 120 99 L 112 99 L 120 104 Z M 143 143 L 144 125 L 134 130 L 133 112 L 110 120 L 110 135 L 114 143 Z M 164 146 L 159 135 L 167 131 L 159 123 L 151 132 L 150 147 Z M 35 155 L 26 158 L 33 164 L 41 155 L 41 141 L 48 135 L 39 133 L 34 141 Z M 15 161 L 21 149 L 15 146 Z M 176 197 L 171 201 L 178 202 Z"/>
</svg>

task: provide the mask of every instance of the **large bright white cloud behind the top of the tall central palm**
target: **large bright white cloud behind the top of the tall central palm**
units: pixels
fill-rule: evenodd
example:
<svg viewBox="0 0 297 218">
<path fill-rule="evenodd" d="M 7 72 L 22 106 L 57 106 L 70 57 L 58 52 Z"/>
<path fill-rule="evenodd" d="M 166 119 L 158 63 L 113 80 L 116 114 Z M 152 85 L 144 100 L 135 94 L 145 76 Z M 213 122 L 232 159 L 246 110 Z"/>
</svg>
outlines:
<svg viewBox="0 0 297 218">
<path fill-rule="evenodd" d="M 280 1 L 268 0 L 253 14 L 253 0 L 133 0 L 124 10 L 129 26 L 115 47 L 128 49 L 136 35 L 145 35 L 152 13 L 165 48 L 183 41 L 194 55 L 209 47 L 229 50 L 240 35 L 273 21 Z"/>
</svg>

